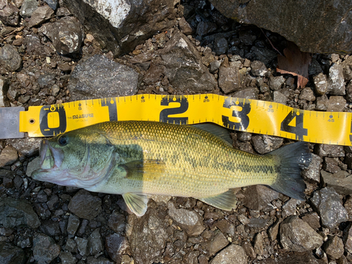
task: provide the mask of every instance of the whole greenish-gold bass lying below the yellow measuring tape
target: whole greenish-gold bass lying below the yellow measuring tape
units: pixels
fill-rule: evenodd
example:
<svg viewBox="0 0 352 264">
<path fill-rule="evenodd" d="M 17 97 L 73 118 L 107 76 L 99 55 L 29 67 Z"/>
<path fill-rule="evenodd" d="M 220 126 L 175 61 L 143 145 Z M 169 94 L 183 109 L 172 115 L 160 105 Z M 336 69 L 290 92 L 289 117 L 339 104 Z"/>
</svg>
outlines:
<svg viewBox="0 0 352 264">
<path fill-rule="evenodd" d="M 108 121 L 43 139 L 34 180 L 122 194 L 138 216 L 148 196 L 194 197 L 222 210 L 236 207 L 233 189 L 263 184 L 304 200 L 301 170 L 308 144 L 288 144 L 265 155 L 234 149 L 224 127 L 154 121 Z"/>
</svg>

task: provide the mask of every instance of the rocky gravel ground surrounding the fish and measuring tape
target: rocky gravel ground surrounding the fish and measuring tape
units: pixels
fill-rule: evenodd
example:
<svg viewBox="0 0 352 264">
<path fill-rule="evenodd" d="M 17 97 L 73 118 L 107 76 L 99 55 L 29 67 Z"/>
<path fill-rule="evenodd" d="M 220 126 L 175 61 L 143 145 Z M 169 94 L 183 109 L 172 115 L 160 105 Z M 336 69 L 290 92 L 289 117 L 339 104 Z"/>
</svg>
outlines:
<svg viewBox="0 0 352 264">
<path fill-rule="evenodd" d="M 294 77 L 275 70 L 271 44 L 282 51 L 283 37 L 239 25 L 206 1 L 182 1 L 175 8 L 175 27 L 120 58 L 101 49 L 89 32 L 83 34 L 63 6 L 52 13 L 46 9 L 49 18 L 40 25 L 33 11 L 17 26 L 1 25 L 1 106 L 214 93 L 305 110 L 351 111 L 352 56 L 312 54 L 308 84 L 298 89 Z M 81 32 L 78 51 L 65 51 L 51 40 L 58 21 Z M 187 74 L 196 83 L 190 84 Z M 291 142 L 234 131 L 232 139 L 234 148 L 260 154 Z M 0 141 L 0 263 L 352 262 L 349 146 L 310 144 L 313 161 L 303 172 L 306 201 L 263 186 L 236 189 L 238 206 L 230 212 L 192 198 L 153 196 L 146 215 L 138 218 L 122 196 L 32 180 L 39 142 Z"/>
</svg>

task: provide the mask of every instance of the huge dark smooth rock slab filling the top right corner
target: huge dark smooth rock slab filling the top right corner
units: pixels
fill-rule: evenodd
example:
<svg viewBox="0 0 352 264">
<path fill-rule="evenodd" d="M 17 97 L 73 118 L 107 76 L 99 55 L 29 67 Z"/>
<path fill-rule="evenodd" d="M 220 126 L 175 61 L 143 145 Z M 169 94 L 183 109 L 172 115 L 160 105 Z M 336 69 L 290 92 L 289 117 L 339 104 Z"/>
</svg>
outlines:
<svg viewBox="0 0 352 264">
<path fill-rule="evenodd" d="M 210 2 L 227 18 L 277 32 L 295 42 L 301 51 L 346 54 L 352 51 L 352 15 L 345 12 L 351 6 L 348 1 L 292 1 L 284 6 L 280 6 L 281 1 L 267 0 L 249 1 L 245 5 L 242 1 Z"/>
</svg>

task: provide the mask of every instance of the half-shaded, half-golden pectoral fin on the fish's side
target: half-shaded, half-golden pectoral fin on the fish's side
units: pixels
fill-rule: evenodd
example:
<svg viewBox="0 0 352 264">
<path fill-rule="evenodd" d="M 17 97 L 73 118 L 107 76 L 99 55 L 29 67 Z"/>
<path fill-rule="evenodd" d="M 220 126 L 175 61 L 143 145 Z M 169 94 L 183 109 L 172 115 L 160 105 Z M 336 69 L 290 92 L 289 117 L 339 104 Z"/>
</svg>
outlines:
<svg viewBox="0 0 352 264">
<path fill-rule="evenodd" d="M 158 160 L 131 161 L 122 165 L 130 180 L 153 181 L 163 175 L 165 163 Z"/>
</svg>

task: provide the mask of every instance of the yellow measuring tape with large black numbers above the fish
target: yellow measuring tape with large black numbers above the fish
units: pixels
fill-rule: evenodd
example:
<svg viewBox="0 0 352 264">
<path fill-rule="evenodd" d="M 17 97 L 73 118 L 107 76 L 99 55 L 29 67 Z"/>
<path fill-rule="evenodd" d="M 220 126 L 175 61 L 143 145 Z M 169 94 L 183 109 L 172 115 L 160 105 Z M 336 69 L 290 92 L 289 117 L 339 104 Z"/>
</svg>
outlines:
<svg viewBox="0 0 352 264">
<path fill-rule="evenodd" d="M 28 132 L 30 137 L 50 137 L 108 120 L 182 125 L 214 122 L 231 130 L 351 146 L 351 118 L 352 113 L 303 111 L 280 103 L 217 94 L 138 94 L 30 106 L 20 112 L 20 132 Z"/>
</svg>

